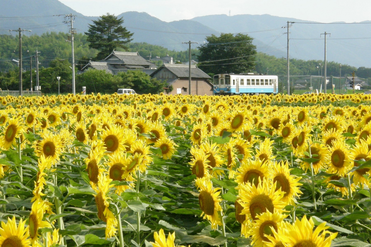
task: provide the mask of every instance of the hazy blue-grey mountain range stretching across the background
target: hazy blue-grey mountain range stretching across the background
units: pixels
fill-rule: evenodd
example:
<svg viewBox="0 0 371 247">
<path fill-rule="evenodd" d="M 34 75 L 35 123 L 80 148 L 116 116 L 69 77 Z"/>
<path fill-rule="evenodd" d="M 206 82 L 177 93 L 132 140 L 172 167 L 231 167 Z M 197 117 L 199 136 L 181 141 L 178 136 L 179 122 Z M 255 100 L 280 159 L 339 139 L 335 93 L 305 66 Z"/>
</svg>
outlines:
<svg viewBox="0 0 371 247">
<path fill-rule="evenodd" d="M 73 27 L 77 32 L 86 32 L 92 20 L 99 17 L 84 16 L 58 0 L 1 0 L 0 34 L 13 34 L 9 30 L 32 30 L 24 35 L 45 32 L 68 32 L 65 14 L 75 15 Z M 206 36 L 220 33 L 244 33 L 254 38 L 258 52 L 276 57 L 286 57 L 287 29 L 290 22 L 290 58 L 324 60 L 324 35 L 327 44 L 327 60 L 355 67 L 371 67 L 370 22 L 345 24 L 321 24 L 306 20 L 271 16 L 269 14 L 235 16 L 209 15 L 190 20 L 164 22 L 144 12 L 129 11 L 119 14 L 124 26 L 134 33 L 133 42 L 147 42 L 170 50 L 186 50 L 183 42 L 198 42 L 200 46 Z M 322 35 L 321 35 L 322 34 Z"/>
</svg>

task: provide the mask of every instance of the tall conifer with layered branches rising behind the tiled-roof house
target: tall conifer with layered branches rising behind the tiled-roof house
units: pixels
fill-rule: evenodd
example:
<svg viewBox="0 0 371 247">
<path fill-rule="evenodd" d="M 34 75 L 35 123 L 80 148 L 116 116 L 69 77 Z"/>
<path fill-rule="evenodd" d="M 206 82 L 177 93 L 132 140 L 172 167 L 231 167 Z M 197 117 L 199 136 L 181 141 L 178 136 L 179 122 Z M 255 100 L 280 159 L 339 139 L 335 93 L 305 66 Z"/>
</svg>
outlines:
<svg viewBox="0 0 371 247">
<path fill-rule="evenodd" d="M 99 51 L 96 59 L 104 59 L 117 48 L 128 50 L 125 44 L 132 40 L 131 36 L 134 33 L 121 26 L 124 23 L 122 17 L 117 19 L 113 14 L 106 13 L 93 23 L 89 24 L 88 32 L 85 34 L 88 36 L 87 41 L 90 42 L 89 47 Z"/>
</svg>

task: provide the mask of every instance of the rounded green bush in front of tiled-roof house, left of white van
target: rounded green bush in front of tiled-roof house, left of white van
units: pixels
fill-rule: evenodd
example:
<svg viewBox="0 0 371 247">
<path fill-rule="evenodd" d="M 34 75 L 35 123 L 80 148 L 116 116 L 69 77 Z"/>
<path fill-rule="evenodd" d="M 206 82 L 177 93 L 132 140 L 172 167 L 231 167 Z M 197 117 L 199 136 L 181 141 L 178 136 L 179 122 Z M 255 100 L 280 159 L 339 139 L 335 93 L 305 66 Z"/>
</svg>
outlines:
<svg viewBox="0 0 371 247">
<path fill-rule="evenodd" d="M 76 76 L 76 92 L 83 86 L 86 86 L 86 93 L 114 93 L 118 88 L 131 88 L 132 84 L 105 70 L 88 69 Z"/>
</svg>

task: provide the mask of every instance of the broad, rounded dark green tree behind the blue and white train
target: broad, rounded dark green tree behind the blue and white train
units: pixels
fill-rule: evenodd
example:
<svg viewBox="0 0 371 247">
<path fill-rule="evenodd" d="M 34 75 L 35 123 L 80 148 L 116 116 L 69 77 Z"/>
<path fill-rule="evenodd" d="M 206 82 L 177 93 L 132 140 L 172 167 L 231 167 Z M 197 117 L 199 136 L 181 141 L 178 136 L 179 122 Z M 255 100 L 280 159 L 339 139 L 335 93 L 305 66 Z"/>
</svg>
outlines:
<svg viewBox="0 0 371 247">
<path fill-rule="evenodd" d="M 244 73 L 255 68 L 256 46 L 252 37 L 238 33 L 212 34 L 206 37 L 207 43 L 198 47 L 198 67 L 205 73 Z M 210 61 L 210 62 L 208 62 Z"/>
</svg>

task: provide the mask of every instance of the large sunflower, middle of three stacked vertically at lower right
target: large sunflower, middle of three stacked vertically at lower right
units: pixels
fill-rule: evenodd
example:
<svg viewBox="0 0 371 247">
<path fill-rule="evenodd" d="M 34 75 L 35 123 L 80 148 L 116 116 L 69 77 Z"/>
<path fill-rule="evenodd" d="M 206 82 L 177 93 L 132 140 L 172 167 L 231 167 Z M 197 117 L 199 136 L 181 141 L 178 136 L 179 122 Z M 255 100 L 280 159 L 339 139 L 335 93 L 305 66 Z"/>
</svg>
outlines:
<svg viewBox="0 0 371 247">
<path fill-rule="evenodd" d="M 259 177 L 258 180 L 257 187 L 250 183 L 239 186 L 239 197 L 243 206 L 241 213 L 246 214 L 246 218 L 250 220 L 257 220 L 257 215 L 266 211 L 273 213 L 276 209 L 281 213 L 287 205 L 287 203 L 282 201 L 284 192 L 273 189 L 276 187 L 276 184 L 271 185 L 268 180 L 260 182 Z"/>
</svg>

